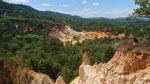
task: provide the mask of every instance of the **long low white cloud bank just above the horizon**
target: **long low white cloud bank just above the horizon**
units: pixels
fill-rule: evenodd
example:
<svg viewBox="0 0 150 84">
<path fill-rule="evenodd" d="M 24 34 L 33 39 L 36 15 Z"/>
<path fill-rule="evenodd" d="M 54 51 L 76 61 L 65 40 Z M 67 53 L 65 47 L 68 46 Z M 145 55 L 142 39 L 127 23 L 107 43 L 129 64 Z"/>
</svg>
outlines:
<svg viewBox="0 0 150 84">
<path fill-rule="evenodd" d="M 132 11 L 128 9 L 114 9 L 111 11 L 92 11 L 90 8 L 84 8 L 82 11 L 57 11 L 64 14 L 77 15 L 84 18 L 90 17 L 107 17 L 107 18 L 117 18 L 117 17 L 126 17 Z"/>
</svg>

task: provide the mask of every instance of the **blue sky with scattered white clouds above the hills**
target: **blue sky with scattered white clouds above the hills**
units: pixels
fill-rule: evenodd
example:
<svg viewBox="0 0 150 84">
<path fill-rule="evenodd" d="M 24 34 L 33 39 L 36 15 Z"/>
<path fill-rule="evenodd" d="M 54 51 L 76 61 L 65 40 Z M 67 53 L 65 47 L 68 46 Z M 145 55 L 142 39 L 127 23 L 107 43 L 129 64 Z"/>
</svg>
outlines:
<svg viewBox="0 0 150 84">
<path fill-rule="evenodd" d="M 84 18 L 126 17 L 138 6 L 134 0 L 4 0 L 24 4 L 41 11 L 55 11 Z"/>
</svg>

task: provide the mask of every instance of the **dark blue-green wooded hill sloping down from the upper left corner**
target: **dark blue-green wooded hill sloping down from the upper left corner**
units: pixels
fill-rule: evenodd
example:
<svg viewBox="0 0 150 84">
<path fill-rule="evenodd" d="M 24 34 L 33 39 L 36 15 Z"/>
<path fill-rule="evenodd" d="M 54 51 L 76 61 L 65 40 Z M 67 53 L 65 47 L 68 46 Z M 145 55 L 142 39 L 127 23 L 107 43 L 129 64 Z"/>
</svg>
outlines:
<svg viewBox="0 0 150 84">
<path fill-rule="evenodd" d="M 52 16 L 55 17 L 77 17 L 67 14 L 62 14 L 58 12 L 52 11 L 39 11 L 30 6 L 26 5 L 18 5 L 18 4 L 10 4 L 0 0 L 0 15 L 6 16 L 15 16 L 15 17 L 27 17 L 27 18 L 41 18 L 41 19 L 51 19 Z"/>
</svg>

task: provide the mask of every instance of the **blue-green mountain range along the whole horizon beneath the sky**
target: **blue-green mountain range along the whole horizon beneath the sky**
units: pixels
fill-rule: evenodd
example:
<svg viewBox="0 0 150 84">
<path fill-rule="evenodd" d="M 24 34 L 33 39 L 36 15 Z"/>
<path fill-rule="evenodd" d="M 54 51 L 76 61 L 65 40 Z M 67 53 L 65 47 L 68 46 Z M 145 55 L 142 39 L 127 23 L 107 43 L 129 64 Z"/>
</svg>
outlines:
<svg viewBox="0 0 150 84">
<path fill-rule="evenodd" d="M 118 18 L 106 18 L 106 17 L 94 17 L 94 18 L 83 18 L 76 15 L 63 14 L 53 11 L 39 11 L 30 6 L 18 5 L 4 2 L 0 0 L 0 15 L 14 16 L 14 17 L 25 17 L 25 18 L 36 18 L 36 19 L 52 19 L 53 17 L 59 18 L 82 18 L 82 19 L 91 19 L 91 20 L 106 20 L 106 21 L 117 21 L 117 22 L 126 22 L 125 17 Z M 150 21 L 150 18 L 136 18 L 130 22 L 135 21 Z"/>
</svg>

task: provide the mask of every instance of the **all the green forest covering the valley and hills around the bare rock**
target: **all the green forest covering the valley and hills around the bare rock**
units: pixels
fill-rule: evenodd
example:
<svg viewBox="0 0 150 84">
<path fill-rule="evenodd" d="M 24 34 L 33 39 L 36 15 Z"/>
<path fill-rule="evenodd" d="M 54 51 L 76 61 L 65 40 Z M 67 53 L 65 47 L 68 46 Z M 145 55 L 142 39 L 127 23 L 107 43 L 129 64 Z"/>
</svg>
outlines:
<svg viewBox="0 0 150 84">
<path fill-rule="evenodd" d="M 10 66 L 11 68 L 27 67 L 46 73 L 53 79 L 62 75 L 69 83 L 78 75 L 83 53 L 89 54 L 91 64 L 105 63 L 114 54 L 112 44 L 120 41 L 103 38 L 75 45 L 68 42 L 64 46 L 60 40 L 48 36 L 48 32 L 52 30 L 51 24 L 70 25 L 77 31 L 101 32 L 110 28 L 110 34 L 125 33 L 126 36 L 133 34 L 135 37 L 150 37 L 149 21 L 85 19 L 56 12 L 37 11 L 29 6 L 9 4 L 0 0 L 0 58 L 12 63 L 14 66 Z"/>
</svg>

